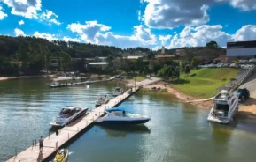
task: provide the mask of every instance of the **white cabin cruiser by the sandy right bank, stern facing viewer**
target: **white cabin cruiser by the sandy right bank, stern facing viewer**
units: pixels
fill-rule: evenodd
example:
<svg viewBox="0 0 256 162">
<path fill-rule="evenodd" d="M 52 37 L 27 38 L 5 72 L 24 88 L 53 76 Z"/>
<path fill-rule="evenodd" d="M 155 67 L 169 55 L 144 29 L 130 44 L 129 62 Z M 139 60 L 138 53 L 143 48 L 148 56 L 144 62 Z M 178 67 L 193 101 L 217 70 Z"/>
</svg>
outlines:
<svg viewBox="0 0 256 162">
<path fill-rule="evenodd" d="M 220 92 L 213 98 L 213 107 L 208 114 L 209 122 L 229 123 L 238 111 L 239 103 L 235 93 Z"/>
</svg>

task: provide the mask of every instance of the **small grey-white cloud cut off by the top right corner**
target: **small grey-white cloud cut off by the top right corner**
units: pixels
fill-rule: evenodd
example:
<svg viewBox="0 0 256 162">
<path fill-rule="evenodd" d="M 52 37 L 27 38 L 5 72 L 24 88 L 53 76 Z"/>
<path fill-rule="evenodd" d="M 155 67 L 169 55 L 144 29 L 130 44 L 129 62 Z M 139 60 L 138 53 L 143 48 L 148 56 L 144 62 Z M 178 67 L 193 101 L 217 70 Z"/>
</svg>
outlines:
<svg viewBox="0 0 256 162">
<path fill-rule="evenodd" d="M 255 0 L 216 0 L 217 2 L 229 2 L 235 8 L 241 9 L 242 11 L 256 10 Z"/>
</svg>

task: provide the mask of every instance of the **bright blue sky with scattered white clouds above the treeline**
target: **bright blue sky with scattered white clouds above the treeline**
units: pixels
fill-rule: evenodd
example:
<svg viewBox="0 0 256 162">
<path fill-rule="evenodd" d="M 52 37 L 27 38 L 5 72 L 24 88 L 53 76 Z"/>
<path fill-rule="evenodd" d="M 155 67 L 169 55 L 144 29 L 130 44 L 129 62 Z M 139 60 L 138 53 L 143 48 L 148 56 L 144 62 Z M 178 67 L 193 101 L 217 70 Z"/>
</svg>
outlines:
<svg viewBox="0 0 256 162">
<path fill-rule="evenodd" d="M 256 40 L 256 0 L 0 0 L 0 34 L 120 48 Z"/>
</svg>

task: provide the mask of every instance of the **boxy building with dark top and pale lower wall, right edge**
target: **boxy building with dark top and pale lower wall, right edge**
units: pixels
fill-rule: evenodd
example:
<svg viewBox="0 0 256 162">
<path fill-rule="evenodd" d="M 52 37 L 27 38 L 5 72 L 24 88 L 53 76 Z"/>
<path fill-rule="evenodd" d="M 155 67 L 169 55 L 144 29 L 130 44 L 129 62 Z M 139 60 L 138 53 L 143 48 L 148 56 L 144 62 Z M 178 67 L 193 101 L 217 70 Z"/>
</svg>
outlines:
<svg viewBox="0 0 256 162">
<path fill-rule="evenodd" d="M 227 57 L 229 59 L 237 57 L 250 58 L 254 56 L 256 56 L 256 40 L 227 43 Z"/>
</svg>

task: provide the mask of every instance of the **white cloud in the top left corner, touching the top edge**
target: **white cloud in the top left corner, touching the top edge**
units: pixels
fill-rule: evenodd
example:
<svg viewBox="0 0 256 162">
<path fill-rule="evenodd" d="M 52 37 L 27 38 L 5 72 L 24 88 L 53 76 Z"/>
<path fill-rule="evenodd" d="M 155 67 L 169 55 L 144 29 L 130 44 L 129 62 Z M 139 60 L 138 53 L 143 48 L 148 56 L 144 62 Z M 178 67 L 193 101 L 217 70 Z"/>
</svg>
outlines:
<svg viewBox="0 0 256 162">
<path fill-rule="evenodd" d="M 11 13 L 25 18 L 37 18 L 37 11 L 41 10 L 41 0 L 2 0 L 12 8 Z"/>
</svg>

